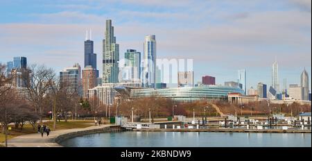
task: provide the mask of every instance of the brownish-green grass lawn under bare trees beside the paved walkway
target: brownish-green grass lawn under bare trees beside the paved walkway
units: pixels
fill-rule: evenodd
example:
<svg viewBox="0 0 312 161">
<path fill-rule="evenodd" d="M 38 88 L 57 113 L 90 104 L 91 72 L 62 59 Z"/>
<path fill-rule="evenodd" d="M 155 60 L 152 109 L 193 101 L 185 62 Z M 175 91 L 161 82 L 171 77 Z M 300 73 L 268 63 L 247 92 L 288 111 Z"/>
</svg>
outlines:
<svg viewBox="0 0 312 161">
<path fill-rule="evenodd" d="M 53 130 L 53 121 L 44 122 L 46 126 L 49 126 L 51 130 Z M 70 129 L 70 128 L 87 128 L 89 126 L 94 126 L 93 120 L 91 121 L 60 121 L 56 122 L 56 130 L 64 130 L 64 129 Z M 12 130 L 8 130 L 8 139 L 11 139 L 13 137 L 17 137 L 19 135 L 26 135 L 31 133 L 37 133 L 37 128 L 33 130 L 33 126 L 31 124 L 25 124 L 23 129 L 15 128 L 15 126 L 11 126 Z M 0 129 L 2 127 L 0 126 Z M 3 143 L 5 141 L 5 135 L 0 132 L 0 143 Z M 1 144 L 0 144 L 1 146 Z"/>
</svg>

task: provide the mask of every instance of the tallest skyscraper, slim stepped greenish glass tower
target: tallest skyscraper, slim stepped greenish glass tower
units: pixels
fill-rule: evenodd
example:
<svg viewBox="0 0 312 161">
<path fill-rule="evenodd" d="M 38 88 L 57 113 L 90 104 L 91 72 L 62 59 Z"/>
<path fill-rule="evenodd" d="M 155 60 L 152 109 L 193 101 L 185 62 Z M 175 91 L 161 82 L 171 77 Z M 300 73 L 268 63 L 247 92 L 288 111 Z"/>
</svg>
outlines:
<svg viewBox="0 0 312 161">
<path fill-rule="evenodd" d="M 103 40 L 103 83 L 118 83 L 119 44 L 114 37 L 112 20 L 106 20 L 105 40 Z"/>
</svg>

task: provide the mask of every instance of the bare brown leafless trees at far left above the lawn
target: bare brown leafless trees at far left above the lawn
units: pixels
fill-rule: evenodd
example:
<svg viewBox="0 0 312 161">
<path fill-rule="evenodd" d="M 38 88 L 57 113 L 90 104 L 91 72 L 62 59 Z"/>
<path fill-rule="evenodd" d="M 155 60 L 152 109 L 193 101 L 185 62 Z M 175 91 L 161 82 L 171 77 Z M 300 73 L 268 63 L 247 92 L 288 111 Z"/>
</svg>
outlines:
<svg viewBox="0 0 312 161">
<path fill-rule="evenodd" d="M 58 117 L 67 121 L 69 114 L 71 117 L 77 112 L 85 115 L 94 109 L 93 106 L 98 106 L 89 103 L 89 107 L 83 108 L 78 91 L 71 86 L 70 80 L 60 81 L 53 69 L 44 65 L 31 65 L 28 69 L 31 74 L 21 75 L 25 87 L 17 88 L 12 87 L 13 76 L 6 73 L 6 65 L 0 64 L 0 121 L 3 128 L 15 122 L 16 127 L 22 128 L 25 121 L 35 127 L 38 120 L 42 124 L 43 118 L 53 117 L 55 129 Z M 17 123 L 17 119 L 21 121 Z"/>
</svg>

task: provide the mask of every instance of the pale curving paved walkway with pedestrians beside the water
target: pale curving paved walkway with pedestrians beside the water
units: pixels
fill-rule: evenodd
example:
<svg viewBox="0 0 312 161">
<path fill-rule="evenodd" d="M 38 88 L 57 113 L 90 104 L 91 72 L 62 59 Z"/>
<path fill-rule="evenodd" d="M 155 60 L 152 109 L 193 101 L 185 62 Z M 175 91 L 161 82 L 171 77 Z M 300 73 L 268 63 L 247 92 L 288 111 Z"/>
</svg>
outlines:
<svg viewBox="0 0 312 161">
<path fill-rule="evenodd" d="M 67 130 L 55 130 L 51 131 L 49 137 L 44 133 L 44 137 L 41 137 L 41 133 L 34 133 L 28 135 L 20 135 L 18 137 L 8 140 L 9 147 L 61 147 L 57 144 L 54 139 L 59 135 L 64 135 L 67 133 L 73 133 L 83 130 L 93 130 L 98 128 L 109 127 L 110 125 L 103 126 L 90 126 L 88 128 L 72 128 Z"/>
</svg>

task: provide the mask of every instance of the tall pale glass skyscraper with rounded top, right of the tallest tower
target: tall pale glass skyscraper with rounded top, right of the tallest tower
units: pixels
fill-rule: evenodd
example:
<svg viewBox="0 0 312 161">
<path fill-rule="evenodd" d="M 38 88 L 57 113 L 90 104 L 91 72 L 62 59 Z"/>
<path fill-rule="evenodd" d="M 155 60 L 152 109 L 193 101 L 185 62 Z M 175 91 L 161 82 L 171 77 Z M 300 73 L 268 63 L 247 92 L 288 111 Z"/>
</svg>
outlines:
<svg viewBox="0 0 312 161">
<path fill-rule="evenodd" d="M 142 72 L 144 87 L 155 87 L 156 83 L 156 39 L 147 35 L 144 39 L 144 63 Z"/>
</svg>

